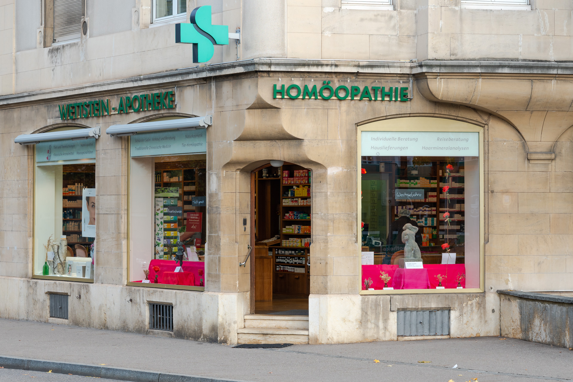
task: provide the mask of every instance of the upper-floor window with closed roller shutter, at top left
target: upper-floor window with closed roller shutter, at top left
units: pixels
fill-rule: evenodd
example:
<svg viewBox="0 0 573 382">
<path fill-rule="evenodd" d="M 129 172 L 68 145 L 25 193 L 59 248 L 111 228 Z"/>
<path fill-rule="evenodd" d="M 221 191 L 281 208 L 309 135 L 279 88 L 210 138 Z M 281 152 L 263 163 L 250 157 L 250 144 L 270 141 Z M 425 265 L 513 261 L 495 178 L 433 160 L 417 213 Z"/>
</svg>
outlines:
<svg viewBox="0 0 573 382">
<path fill-rule="evenodd" d="M 84 16 L 82 0 L 53 0 L 54 37 L 52 42 L 80 38 L 81 20 Z"/>
</svg>

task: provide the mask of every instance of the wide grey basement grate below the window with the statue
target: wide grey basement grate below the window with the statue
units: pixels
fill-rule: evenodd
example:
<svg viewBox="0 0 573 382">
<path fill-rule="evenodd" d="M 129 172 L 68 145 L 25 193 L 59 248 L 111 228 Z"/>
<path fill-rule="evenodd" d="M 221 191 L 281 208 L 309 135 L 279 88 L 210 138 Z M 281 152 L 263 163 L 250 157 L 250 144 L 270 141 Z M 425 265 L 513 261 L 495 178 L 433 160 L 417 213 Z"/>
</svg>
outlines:
<svg viewBox="0 0 573 382">
<path fill-rule="evenodd" d="M 449 310 L 398 310 L 398 336 L 448 336 Z"/>
</svg>

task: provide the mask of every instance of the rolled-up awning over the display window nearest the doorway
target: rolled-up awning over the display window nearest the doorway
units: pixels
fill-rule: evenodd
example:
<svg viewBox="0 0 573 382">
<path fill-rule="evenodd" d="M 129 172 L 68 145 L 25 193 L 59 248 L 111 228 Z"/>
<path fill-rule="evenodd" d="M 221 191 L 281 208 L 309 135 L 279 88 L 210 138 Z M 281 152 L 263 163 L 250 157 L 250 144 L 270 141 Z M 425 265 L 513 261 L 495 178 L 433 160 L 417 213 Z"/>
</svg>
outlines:
<svg viewBox="0 0 573 382">
<path fill-rule="evenodd" d="M 210 125 L 213 125 L 213 116 L 207 115 L 205 117 L 170 119 L 132 123 L 128 125 L 111 125 L 105 130 L 105 133 L 110 136 L 125 136 L 152 131 L 206 129 Z"/>
</svg>

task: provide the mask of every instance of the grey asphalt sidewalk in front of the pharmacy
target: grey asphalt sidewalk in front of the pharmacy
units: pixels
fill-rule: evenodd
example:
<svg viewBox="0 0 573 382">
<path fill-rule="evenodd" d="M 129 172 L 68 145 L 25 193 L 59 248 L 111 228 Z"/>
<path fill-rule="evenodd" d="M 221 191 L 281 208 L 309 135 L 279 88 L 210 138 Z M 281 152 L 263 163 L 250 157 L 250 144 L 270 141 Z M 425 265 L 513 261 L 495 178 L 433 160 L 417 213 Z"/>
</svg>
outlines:
<svg viewBox="0 0 573 382">
<path fill-rule="evenodd" d="M 0 332 L 0 355 L 5 357 L 220 379 L 264 382 L 573 380 L 573 351 L 501 337 L 234 349 L 226 345 L 32 321 L 0 320 Z M 375 359 L 380 362 L 375 363 Z M 456 364 L 458 367 L 452 369 Z"/>
</svg>

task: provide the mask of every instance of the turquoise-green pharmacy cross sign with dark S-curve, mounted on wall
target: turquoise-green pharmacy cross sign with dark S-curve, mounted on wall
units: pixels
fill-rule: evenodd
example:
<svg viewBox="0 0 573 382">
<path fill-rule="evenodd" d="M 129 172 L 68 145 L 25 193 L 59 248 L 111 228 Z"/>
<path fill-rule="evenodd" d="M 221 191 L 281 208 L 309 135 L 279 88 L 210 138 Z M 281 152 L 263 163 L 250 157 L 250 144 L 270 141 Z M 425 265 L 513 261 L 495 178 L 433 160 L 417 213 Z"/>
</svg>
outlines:
<svg viewBox="0 0 573 382">
<path fill-rule="evenodd" d="M 229 45 L 229 26 L 211 23 L 211 6 L 191 12 L 191 23 L 175 24 L 175 42 L 193 44 L 193 62 L 207 62 L 215 53 L 214 45 Z"/>
</svg>

